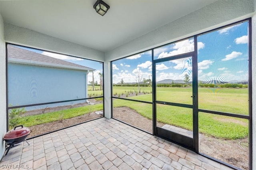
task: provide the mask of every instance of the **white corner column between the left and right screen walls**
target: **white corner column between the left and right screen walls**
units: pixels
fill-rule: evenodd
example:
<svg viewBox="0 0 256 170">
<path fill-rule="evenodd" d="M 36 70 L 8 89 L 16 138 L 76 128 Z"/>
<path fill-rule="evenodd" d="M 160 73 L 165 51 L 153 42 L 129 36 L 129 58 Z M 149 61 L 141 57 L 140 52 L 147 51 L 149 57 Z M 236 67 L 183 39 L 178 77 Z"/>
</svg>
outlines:
<svg viewBox="0 0 256 170">
<path fill-rule="evenodd" d="M 110 61 L 104 62 L 104 117 L 111 118 L 111 70 Z"/>
</svg>

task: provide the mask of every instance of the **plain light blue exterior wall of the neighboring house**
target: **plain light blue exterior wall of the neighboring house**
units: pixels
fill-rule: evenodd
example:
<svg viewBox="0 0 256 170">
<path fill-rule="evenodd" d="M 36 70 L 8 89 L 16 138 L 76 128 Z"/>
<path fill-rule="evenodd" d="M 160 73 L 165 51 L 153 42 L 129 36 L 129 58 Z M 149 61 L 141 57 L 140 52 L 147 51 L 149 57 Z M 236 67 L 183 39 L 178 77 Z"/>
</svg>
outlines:
<svg viewBox="0 0 256 170">
<path fill-rule="evenodd" d="M 86 98 L 87 71 L 8 63 L 8 104 L 40 104 Z M 48 107 L 85 102 L 51 104 Z M 45 108 L 27 107 L 26 109 Z"/>
</svg>

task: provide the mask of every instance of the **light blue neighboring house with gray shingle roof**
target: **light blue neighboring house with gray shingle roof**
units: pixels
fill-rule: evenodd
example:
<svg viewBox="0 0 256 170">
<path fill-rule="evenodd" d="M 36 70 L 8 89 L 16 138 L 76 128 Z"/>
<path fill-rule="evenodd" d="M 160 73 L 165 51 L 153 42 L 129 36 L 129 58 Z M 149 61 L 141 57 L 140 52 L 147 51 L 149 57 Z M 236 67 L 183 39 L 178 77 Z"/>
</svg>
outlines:
<svg viewBox="0 0 256 170">
<path fill-rule="evenodd" d="M 87 75 L 94 69 L 8 45 L 8 104 L 16 106 L 87 98 Z M 27 110 L 74 102 L 26 107 Z"/>
</svg>

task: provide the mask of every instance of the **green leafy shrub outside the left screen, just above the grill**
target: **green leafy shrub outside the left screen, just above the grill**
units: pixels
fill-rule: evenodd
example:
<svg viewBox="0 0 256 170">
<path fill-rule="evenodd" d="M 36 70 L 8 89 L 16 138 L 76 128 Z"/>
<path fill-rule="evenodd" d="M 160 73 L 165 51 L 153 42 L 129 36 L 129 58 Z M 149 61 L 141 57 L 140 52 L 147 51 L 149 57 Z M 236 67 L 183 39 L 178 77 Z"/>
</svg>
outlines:
<svg viewBox="0 0 256 170">
<path fill-rule="evenodd" d="M 9 107 L 11 107 L 12 104 L 9 105 Z M 17 104 L 18 106 L 18 104 Z M 15 126 L 18 125 L 19 122 L 19 118 L 21 117 L 22 114 L 26 113 L 26 109 L 23 108 L 14 108 L 14 109 L 10 109 L 8 111 L 9 114 L 9 130 L 13 129 Z"/>
</svg>

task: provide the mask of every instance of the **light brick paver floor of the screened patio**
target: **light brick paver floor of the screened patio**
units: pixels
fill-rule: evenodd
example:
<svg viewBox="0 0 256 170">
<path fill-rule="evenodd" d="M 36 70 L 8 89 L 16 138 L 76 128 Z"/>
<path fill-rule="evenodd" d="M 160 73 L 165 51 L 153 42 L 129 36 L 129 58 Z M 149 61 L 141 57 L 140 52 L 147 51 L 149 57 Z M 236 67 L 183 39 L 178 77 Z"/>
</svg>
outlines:
<svg viewBox="0 0 256 170">
<path fill-rule="evenodd" d="M 231 170 L 114 119 L 96 119 L 28 143 L 11 148 L 0 169 Z"/>
</svg>

